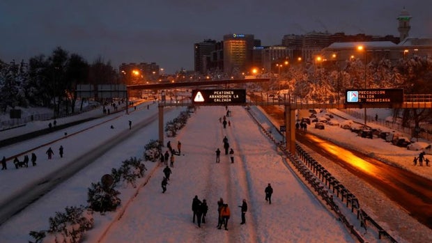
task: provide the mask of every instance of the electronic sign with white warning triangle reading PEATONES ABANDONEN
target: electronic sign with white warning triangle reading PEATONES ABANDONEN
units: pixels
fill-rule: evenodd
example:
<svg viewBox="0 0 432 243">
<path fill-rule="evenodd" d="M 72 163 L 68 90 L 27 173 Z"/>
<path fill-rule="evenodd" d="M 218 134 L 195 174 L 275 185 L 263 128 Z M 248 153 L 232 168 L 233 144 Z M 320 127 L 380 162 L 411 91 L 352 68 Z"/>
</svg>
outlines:
<svg viewBox="0 0 432 243">
<path fill-rule="evenodd" d="M 192 91 L 194 104 L 233 104 L 246 102 L 245 89 L 199 89 Z"/>
</svg>

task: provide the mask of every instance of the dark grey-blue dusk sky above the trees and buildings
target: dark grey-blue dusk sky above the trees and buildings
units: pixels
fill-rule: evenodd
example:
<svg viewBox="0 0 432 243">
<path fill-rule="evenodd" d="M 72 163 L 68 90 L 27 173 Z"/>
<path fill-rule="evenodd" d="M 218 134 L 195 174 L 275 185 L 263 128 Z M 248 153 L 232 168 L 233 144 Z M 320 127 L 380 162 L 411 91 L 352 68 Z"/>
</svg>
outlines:
<svg viewBox="0 0 432 243">
<path fill-rule="evenodd" d="M 253 34 L 280 45 L 286 34 L 311 31 L 399 36 L 403 7 L 411 37 L 432 37 L 430 0 L 2 0 L 0 60 L 28 61 L 56 47 L 92 63 L 152 63 L 173 73 L 193 70 L 194 43 Z"/>
</svg>

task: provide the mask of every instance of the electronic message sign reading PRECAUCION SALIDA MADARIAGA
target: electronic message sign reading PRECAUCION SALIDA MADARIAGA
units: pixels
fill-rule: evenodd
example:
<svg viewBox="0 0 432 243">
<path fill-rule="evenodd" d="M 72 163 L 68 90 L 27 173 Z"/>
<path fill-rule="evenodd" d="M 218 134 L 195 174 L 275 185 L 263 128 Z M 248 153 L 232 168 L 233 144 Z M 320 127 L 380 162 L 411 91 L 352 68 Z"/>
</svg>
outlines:
<svg viewBox="0 0 432 243">
<path fill-rule="evenodd" d="M 368 103 L 402 103 L 403 89 L 399 88 L 371 88 L 347 90 L 345 93 L 346 104 Z"/>
</svg>

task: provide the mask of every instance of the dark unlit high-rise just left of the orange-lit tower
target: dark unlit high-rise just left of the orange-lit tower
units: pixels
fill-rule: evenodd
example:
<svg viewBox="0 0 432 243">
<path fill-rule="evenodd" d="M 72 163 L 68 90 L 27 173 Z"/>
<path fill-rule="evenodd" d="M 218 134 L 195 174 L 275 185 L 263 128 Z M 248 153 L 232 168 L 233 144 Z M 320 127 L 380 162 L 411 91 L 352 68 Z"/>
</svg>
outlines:
<svg viewBox="0 0 432 243">
<path fill-rule="evenodd" d="M 205 74 L 210 69 L 212 52 L 217 47 L 216 40 L 204 40 L 194 44 L 194 71 Z"/>
</svg>

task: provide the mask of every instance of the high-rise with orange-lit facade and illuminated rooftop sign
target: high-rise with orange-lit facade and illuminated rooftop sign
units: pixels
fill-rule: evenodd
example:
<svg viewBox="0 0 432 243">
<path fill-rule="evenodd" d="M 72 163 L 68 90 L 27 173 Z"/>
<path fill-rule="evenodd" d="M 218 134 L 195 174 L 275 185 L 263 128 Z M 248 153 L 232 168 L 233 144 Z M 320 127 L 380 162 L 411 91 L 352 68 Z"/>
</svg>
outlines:
<svg viewBox="0 0 432 243">
<path fill-rule="evenodd" d="M 247 72 L 252 68 L 254 45 L 261 41 L 254 40 L 254 35 L 229 34 L 224 36 L 224 72 Z"/>
</svg>

